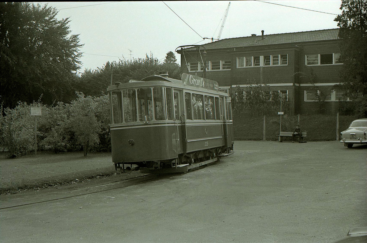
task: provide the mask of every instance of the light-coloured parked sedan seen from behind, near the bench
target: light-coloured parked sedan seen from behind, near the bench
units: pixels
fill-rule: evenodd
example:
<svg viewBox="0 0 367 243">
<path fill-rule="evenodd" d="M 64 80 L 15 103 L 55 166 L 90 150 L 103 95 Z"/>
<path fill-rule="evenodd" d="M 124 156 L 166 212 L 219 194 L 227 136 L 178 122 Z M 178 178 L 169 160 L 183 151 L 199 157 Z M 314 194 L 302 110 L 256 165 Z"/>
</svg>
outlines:
<svg viewBox="0 0 367 243">
<path fill-rule="evenodd" d="M 349 128 L 340 133 L 340 142 L 352 148 L 353 144 L 367 144 L 367 118 L 357 119 L 350 123 Z"/>
</svg>

